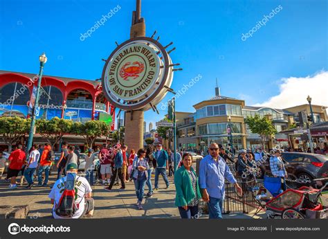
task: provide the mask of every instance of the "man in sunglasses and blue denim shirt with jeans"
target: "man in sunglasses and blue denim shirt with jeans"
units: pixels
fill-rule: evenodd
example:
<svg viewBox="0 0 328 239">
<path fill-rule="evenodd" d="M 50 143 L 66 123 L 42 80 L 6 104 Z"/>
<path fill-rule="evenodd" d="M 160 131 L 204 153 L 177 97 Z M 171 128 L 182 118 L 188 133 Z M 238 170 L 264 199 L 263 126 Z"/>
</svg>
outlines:
<svg viewBox="0 0 328 239">
<path fill-rule="evenodd" d="M 224 202 L 224 179 L 235 185 L 237 193 L 242 194 L 242 188 L 237 184 L 224 159 L 219 156 L 219 146 L 211 143 L 208 148 L 210 154 L 201 159 L 199 179 L 203 200 L 208 202 L 210 218 L 222 218 L 222 204 Z"/>
</svg>

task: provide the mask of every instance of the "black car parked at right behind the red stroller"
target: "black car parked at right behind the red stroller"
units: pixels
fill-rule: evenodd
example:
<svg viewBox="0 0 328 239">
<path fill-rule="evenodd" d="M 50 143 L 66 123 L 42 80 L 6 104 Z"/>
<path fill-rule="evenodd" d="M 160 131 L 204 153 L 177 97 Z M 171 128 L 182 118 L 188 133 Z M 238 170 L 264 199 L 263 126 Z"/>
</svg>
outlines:
<svg viewBox="0 0 328 239">
<path fill-rule="evenodd" d="M 318 171 L 328 157 L 322 154 L 310 154 L 307 152 L 282 152 L 282 160 L 289 175 L 295 175 L 298 179 L 320 178 Z M 271 171 L 269 158 L 264 163 L 266 171 Z"/>
</svg>

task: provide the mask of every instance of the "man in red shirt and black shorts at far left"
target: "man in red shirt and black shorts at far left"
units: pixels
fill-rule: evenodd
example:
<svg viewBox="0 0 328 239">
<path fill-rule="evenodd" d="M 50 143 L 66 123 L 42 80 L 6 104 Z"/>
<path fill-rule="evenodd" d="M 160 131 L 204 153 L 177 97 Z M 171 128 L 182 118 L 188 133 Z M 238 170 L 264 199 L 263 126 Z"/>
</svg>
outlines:
<svg viewBox="0 0 328 239">
<path fill-rule="evenodd" d="M 17 150 L 12 151 L 8 158 L 10 163 L 8 166 L 8 178 L 11 178 L 9 186 L 11 189 L 17 188 L 16 177 L 26 161 L 26 155 L 22 149 L 23 146 L 19 144 Z"/>
</svg>

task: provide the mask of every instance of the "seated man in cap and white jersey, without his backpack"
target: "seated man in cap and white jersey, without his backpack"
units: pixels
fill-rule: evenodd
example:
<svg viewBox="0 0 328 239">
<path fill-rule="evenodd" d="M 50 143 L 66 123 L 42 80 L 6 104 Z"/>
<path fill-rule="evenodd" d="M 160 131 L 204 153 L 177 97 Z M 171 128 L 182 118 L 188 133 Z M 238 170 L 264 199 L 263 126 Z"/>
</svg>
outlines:
<svg viewBox="0 0 328 239">
<path fill-rule="evenodd" d="M 78 173 L 78 164 L 77 163 L 69 163 L 66 167 L 67 174 L 69 173 Z M 48 197 L 51 199 L 51 204 L 53 204 L 53 218 L 61 219 L 57 213 L 55 213 L 55 209 L 57 204 L 60 203 L 60 198 L 62 197 L 62 193 L 65 190 L 65 184 L 66 184 L 66 178 L 62 177 L 58 179 L 55 184 L 53 185 L 53 188 L 51 189 L 51 192 L 49 193 Z M 93 215 L 94 210 L 94 201 L 91 197 L 91 186 L 89 182 L 86 180 L 85 177 L 80 177 L 76 175 L 75 177 L 75 204 L 78 206 L 78 210 L 75 211 L 72 218 L 82 218 L 84 215 L 86 217 L 91 218 Z"/>
</svg>

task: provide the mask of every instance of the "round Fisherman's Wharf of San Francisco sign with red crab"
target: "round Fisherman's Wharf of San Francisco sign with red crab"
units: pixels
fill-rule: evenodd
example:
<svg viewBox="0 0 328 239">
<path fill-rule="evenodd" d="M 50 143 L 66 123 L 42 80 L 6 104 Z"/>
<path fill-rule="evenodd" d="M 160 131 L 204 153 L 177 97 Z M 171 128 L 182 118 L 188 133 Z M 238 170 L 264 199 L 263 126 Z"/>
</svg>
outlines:
<svg viewBox="0 0 328 239">
<path fill-rule="evenodd" d="M 154 33 L 155 34 L 155 33 Z M 154 36 L 154 35 L 153 35 Z M 168 44 L 167 46 L 170 46 Z M 109 55 L 102 71 L 102 90 L 109 102 L 123 110 L 147 110 L 163 100 L 173 69 L 169 53 L 152 37 L 135 37 L 120 44 Z"/>
</svg>

